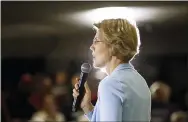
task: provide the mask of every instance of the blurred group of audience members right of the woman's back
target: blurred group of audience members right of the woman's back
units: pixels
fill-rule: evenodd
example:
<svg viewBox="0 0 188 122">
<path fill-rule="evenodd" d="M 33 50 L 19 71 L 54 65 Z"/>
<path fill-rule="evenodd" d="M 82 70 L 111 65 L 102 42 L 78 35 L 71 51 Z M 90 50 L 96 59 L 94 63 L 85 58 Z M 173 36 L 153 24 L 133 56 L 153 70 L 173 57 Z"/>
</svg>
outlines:
<svg viewBox="0 0 188 122">
<path fill-rule="evenodd" d="M 181 105 L 170 102 L 172 90 L 169 85 L 156 81 L 150 86 L 150 90 L 152 122 L 188 122 L 188 112 L 182 110 Z"/>
</svg>

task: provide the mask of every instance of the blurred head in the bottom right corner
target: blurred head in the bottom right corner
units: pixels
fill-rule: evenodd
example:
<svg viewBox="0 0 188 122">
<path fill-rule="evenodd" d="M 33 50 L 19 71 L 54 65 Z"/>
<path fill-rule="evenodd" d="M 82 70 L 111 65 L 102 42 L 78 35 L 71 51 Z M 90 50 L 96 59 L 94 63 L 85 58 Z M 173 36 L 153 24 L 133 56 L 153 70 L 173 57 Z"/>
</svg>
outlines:
<svg viewBox="0 0 188 122">
<path fill-rule="evenodd" d="M 171 122 L 188 122 L 188 115 L 183 111 L 174 112 L 172 113 L 170 120 Z"/>
</svg>

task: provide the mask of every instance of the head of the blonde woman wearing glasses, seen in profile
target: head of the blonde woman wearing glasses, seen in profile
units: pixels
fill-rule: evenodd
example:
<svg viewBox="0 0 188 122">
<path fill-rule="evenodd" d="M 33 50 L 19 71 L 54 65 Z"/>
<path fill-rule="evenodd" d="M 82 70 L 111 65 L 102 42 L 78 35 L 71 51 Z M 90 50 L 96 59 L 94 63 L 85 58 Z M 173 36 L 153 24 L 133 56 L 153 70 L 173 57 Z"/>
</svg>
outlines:
<svg viewBox="0 0 188 122">
<path fill-rule="evenodd" d="M 140 37 L 127 19 L 106 19 L 94 24 L 96 35 L 90 49 L 94 67 L 107 68 L 115 62 L 129 63 L 138 53 Z"/>
</svg>

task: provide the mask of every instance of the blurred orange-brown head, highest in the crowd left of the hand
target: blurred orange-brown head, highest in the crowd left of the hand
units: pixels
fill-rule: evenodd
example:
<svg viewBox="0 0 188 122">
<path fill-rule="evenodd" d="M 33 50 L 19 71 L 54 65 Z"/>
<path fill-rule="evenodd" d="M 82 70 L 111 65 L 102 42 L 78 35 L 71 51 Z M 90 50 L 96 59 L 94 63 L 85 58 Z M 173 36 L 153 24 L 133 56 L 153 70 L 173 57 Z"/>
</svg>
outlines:
<svg viewBox="0 0 188 122">
<path fill-rule="evenodd" d="M 58 85 L 65 84 L 67 81 L 67 73 L 65 71 L 57 72 L 55 75 L 55 83 Z"/>
</svg>

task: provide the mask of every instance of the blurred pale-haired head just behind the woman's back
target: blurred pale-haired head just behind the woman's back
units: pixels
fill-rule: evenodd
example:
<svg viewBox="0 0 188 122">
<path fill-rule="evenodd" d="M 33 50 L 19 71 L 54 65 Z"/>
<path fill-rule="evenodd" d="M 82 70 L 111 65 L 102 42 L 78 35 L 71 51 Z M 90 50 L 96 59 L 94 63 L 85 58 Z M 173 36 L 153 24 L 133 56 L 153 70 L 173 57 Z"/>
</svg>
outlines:
<svg viewBox="0 0 188 122">
<path fill-rule="evenodd" d="M 168 102 L 171 95 L 171 88 L 160 81 L 154 82 L 151 87 L 151 96 L 153 100 Z"/>
</svg>

